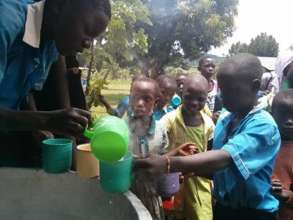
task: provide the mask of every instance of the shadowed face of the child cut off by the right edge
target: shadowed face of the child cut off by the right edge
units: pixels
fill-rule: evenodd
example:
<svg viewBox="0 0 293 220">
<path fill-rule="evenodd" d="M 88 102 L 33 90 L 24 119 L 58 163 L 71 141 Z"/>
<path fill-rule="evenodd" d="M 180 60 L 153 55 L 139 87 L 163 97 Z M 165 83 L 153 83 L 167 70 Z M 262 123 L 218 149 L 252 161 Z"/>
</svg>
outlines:
<svg viewBox="0 0 293 220">
<path fill-rule="evenodd" d="M 273 111 L 282 139 L 293 140 L 293 97 L 280 103 Z"/>
</svg>

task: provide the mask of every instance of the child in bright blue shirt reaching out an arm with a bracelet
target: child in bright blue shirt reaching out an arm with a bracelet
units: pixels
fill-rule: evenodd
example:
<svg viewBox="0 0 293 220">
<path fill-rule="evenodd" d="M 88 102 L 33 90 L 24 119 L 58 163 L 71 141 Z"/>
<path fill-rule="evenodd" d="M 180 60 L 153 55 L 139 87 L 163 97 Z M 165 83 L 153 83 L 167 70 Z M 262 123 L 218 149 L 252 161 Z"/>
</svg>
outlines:
<svg viewBox="0 0 293 220">
<path fill-rule="evenodd" d="M 279 202 L 271 193 L 270 179 L 280 134 L 271 115 L 255 108 L 261 74 L 260 61 L 253 55 L 227 59 L 217 78 L 229 112 L 216 125 L 213 150 L 137 160 L 135 168 L 213 176 L 214 220 L 275 219 Z"/>
</svg>

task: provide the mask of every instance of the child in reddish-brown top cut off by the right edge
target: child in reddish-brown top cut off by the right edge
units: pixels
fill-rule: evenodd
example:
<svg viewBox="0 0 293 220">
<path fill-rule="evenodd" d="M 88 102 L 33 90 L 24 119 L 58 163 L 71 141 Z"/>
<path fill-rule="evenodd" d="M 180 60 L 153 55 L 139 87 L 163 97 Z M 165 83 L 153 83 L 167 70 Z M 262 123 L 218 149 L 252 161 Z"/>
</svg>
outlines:
<svg viewBox="0 0 293 220">
<path fill-rule="evenodd" d="M 291 220 L 293 219 L 293 89 L 276 95 L 272 111 L 282 137 L 282 146 L 272 177 L 272 189 L 280 201 L 280 220 Z"/>
</svg>

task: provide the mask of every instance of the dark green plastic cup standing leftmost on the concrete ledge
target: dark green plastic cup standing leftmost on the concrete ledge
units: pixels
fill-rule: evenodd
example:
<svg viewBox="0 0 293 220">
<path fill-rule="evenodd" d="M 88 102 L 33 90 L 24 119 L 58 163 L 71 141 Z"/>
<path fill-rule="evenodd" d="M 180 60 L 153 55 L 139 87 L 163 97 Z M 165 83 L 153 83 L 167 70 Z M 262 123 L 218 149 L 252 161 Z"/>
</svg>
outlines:
<svg viewBox="0 0 293 220">
<path fill-rule="evenodd" d="M 65 173 L 72 164 L 72 140 L 50 138 L 42 142 L 42 167 L 47 173 Z"/>
</svg>

